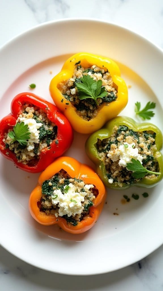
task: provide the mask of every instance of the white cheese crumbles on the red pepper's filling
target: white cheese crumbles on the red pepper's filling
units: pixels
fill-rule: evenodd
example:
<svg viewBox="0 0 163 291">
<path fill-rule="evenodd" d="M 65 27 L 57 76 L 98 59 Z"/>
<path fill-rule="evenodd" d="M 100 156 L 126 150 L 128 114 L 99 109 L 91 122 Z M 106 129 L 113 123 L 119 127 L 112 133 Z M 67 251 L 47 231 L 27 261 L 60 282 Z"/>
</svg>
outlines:
<svg viewBox="0 0 163 291">
<path fill-rule="evenodd" d="M 28 129 L 30 132 L 30 139 L 27 142 L 27 150 L 30 152 L 34 149 L 34 143 L 39 143 L 39 128 L 43 125 L 42 123 L 36 123 L 36 120 L 33 118 L 25 118 L 19 117 L 17 122 L 24 122 L 24 124 L 28 125 Z"/>
</svg>

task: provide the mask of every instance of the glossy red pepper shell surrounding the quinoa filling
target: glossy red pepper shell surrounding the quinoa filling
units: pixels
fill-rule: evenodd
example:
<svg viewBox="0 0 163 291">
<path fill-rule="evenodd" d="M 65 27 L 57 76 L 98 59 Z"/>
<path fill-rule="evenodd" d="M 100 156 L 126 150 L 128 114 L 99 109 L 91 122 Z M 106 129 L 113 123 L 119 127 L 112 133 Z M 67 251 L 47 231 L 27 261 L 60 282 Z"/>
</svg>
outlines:
<svg viewBox="0 0 163 291">
<path fill-rule="evenodd" d="M 19 162 L 15 153 L 9 148 L 6 148 L 3 142 L 4 134 L 16 124 L 16 120 L 22 113 L 22 107 L 25 103 L 30 103 L 41 108 L 47 114 L 47 118 L 58 127 L 56 139 L 50 143 L 50 146 L 41 150 L 36 164 L 23 164 Z M 73 131 L 67 118 L 65 118 L 54 104 L 47 102 L 33 93 L 25 92 L 15 96 L 11 103 L 11 113 L 0 121 L 1 154 L 14 162 L 18 168 L 27 172 L 39 173 L 43 171 L 54 159 L 61 156 L 70 147 L 72 140 Z"/>
</svg>

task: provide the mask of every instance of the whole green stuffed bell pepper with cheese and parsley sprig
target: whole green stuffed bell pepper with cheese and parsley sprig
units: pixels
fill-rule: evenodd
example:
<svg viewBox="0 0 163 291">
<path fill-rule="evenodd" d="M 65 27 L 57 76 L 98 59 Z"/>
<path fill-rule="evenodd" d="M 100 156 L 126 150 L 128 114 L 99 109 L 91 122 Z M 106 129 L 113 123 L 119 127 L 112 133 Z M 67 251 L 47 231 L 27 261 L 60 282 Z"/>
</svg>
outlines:
<svg viewBox="0 0 163 291">
<path fill-rule="evenodd" d="M 162 133 L 151 123 L 113 118 L 89 136 L 88 157 L 103 183 L 112 189 L 153 187 L 163 178 Z"/>
</svg>

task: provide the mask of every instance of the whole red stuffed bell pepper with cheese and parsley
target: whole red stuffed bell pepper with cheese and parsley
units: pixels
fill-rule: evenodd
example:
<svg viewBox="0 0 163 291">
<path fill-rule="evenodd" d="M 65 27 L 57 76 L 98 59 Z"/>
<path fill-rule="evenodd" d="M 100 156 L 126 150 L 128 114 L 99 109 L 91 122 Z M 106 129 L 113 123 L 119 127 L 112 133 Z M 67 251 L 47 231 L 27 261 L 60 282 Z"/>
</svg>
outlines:
<svg viewBox="0 0 163 291">
<path fill-rule="evenodd" d="M 0 152 L 27 172 L 43 171 L 72 140 L 72 127 L 65 116 L 32 93 L 14 97 L 11 113 L 0 121 Z"/>
</svg>

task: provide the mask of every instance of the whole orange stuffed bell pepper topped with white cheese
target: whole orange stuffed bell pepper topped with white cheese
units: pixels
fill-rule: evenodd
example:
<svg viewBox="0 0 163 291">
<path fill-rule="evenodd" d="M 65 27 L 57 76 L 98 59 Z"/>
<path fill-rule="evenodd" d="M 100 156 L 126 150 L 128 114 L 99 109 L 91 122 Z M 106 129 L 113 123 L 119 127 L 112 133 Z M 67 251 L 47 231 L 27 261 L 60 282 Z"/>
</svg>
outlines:
<svg viewBox="0 0 163 291">
<path fill-rule="evenodd" d="M 79 234 L 97 221 L 105 197 L 105 186 L 91 168 L 60 157 L 41 173 L 30 195 L 30 213 L 43 225 L 58 224 Z"/>
</svg>

